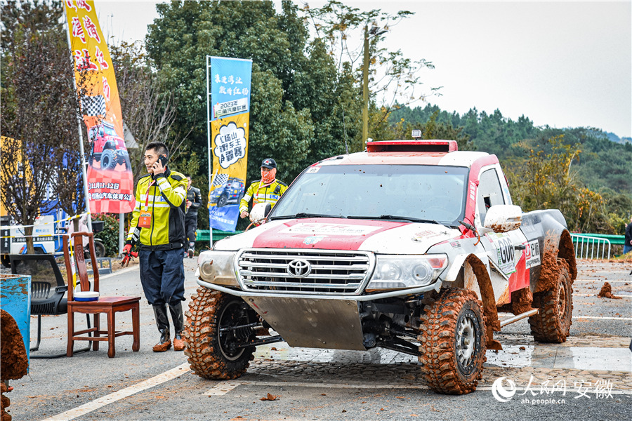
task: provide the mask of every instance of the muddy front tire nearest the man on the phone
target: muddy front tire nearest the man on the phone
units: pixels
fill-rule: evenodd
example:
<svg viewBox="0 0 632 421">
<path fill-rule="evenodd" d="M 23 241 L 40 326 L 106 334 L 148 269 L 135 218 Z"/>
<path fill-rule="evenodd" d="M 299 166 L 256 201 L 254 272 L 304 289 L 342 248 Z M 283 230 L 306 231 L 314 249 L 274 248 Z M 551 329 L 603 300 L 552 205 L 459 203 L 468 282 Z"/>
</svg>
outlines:
<svg viewBox="0 0 632 421">
<path fill-rule="evenodd" d="M 246 373 L 255 347 L 234 348 L 254 338 L 251 328 L 224 330 L 256 322 L 257 316 L 241 298 L 208 288 L 192 296 L 184 332 L 185 354 L 199 377 L 231 380 Z"/>
</svg>

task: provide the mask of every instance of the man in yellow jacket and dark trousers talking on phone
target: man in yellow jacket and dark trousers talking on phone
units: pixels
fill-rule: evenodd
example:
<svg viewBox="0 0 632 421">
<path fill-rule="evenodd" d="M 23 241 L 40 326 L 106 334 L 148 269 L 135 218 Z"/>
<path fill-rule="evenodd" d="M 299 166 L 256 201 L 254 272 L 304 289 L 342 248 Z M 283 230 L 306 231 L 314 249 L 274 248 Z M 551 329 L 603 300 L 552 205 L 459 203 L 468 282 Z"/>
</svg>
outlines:
<svg viewBox="0 0 632 421">
<path fill-rule="evenodd" d="M 186 245 L 187 179 L 169 169 L 168 159 L 169 149 L 162 142 L 152 142 L 145 148 L 147 175 L 136 185 L 136 206 L 123 248 L 123 253 L 129 255 L 135 243 L 140 245 L 140 283 L 145 298 L 154 307 L 160 332 L 154 352 L 171 348 L 166 306 L 169 306 L 173 322 L 173 349 L 182 351 L 185 347 L 182 340 L 182 302 L 185 299 L 182 255 Z"/>
</svg>

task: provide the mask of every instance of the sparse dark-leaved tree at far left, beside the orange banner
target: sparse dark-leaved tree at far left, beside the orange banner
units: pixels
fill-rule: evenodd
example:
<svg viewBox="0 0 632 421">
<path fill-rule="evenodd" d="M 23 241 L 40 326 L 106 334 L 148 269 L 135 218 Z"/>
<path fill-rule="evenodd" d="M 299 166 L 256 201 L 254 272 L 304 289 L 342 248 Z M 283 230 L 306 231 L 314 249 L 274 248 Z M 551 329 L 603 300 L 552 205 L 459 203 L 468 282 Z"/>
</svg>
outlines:
<svg viewBox="0 0 632 421">
<path fill-rule="evenodd" d="M 2 5 L 1 200 L 21 225 L 82 208 L 77 97 L 59 1 Z M 34 253 L 25 228 L 28 253 Z"/>
</svg>

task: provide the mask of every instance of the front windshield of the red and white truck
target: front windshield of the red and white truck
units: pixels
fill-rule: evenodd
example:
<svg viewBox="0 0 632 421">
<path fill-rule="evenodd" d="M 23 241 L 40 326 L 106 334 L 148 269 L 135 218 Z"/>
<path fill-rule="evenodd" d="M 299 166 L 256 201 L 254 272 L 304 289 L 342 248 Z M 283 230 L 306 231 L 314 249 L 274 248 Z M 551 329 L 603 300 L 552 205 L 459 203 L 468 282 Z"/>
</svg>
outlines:
<svg viewBox="0 0 632 421">
<path fill-rule="evenodd" d="M 336 165 L 308 168 L 272 209 L 270 219 L 330 216 L 429 220 L 459 225 L 468 168 Z"/>
</svg>

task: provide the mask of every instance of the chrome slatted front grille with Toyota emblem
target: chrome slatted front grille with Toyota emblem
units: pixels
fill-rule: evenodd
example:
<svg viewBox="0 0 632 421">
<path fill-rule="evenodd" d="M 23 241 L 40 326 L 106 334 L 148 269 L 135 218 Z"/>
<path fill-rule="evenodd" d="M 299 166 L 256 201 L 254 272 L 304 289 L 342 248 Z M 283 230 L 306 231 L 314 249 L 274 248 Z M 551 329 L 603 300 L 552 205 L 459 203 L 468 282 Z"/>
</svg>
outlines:
<svg viewBox="0 0 632 421">
<path fill-rule="evenodd" d="M 374 265 L 372 253 L 359 251 L 259 248 L 242 250 L 237 274 L 249 291 L 357 295 Z"/>
</svg>

